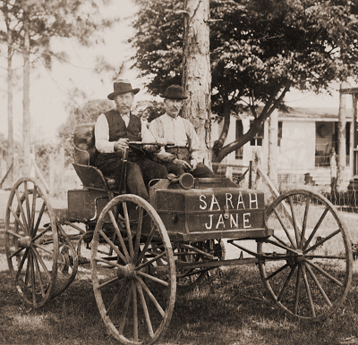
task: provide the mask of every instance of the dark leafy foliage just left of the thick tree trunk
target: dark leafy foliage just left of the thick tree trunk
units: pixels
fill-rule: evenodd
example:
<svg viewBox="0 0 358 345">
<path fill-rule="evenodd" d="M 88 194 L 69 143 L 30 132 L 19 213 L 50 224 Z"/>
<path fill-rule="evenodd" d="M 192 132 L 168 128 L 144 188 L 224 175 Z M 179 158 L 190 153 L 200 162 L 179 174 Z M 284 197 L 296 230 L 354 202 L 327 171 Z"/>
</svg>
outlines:
<svg viewBox="0 0 358 345">
<path fill-rule="evenodd" d="M 150 76 L 153 95 L 163 94 L 171 84 L 180 84 L 183 65 L 183 0 L 135 0 L 140 6 L 133 22 L 137 30 L 134 66 L 140 76 Z"/>
</svg>

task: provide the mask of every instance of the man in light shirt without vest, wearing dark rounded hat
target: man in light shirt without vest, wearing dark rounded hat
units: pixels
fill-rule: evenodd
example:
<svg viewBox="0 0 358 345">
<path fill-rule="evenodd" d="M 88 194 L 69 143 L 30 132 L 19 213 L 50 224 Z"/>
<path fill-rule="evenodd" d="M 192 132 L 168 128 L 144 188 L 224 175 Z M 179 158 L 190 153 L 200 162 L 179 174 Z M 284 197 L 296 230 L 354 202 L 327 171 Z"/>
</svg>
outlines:
<svg viewBox="0 0 358 345">
<path fill-rule="evenodd" d="M 154 159 L 166 165 L 168 173 L 177 176 L 192 173 L 194 177 L 216 177 L 216 174 L 202 163 L 205 150 L 192 122 L 179 116 L 183 99 L 187 98 L 183 88 L 172 85 L 166 88 L 163 97 L 166 114 L 150 122 L 149 130 L 158 143 L 175 142 L 175 147 L 161 147 L 154 154 Z"/>
</svg>

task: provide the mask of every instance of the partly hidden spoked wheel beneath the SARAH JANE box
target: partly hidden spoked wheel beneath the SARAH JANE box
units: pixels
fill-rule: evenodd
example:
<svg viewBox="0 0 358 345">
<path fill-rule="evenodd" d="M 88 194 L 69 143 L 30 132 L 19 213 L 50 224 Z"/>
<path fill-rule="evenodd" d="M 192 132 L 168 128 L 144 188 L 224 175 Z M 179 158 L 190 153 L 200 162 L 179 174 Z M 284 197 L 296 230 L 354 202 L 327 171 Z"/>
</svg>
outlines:
<svg viewBox="0 0 358 345">
<path fill-rule="evenodd" d="M 196 289 L 209 272 L 208 269 L 195 267 L 195 263 L 211 259 L 209 256 L 217 257 L 219 260 L 225 260 L 226 256 L 223 240 L 177 243 L 174 252 L 177 260 L 176 287 L 178 292 L 183 293 Z M 188 267 L 188 264 L 192 264 L 192 268 Z"/>
</svg>

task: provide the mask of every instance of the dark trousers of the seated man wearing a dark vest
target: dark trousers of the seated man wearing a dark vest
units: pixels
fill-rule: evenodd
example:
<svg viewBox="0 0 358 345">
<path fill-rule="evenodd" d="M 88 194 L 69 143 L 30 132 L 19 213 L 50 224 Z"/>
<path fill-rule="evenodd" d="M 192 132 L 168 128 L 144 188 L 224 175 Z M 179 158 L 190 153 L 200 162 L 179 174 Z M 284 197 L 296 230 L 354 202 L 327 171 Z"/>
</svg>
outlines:
<svg viewBox="0 0 358 345">
<path fill-rule="evenodd" d="M 117 181 L 121 181 L 123 161 L 121 159 L 111 159 L 98 166 L 101 172 L 106 176 L 114 176 Z M 166 167 L 155 163 L 149 158 L 143 157 L 134 162 L 127 162 L 127 188 L 128 192 L 149 200 L 148 185 L 153 179 L 166 179 Z"/>
</svg>

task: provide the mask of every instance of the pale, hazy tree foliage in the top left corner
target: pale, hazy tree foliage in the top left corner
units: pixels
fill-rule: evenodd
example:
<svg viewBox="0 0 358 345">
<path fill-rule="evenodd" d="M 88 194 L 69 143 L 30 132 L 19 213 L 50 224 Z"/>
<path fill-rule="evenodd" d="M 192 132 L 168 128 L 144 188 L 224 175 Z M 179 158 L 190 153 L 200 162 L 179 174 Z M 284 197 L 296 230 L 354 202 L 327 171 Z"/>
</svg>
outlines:
<svg viewBox="0 0 358 345">
<path fill-rule="evenodd" d="M 11 37 L 13 49 L 21 52 L 24 33 L 29 30 L 31 53 L 50 68 L 52 58 L 67 59 L 64 52 L 53 50 L 53 38 L 75 38 L 82 46 L 90 46 L 100 39 L 101 29 L 117 21 L 100 18 L 99 8 L 105 4 L 107 0 L 1 0 L 0 11 L 6 24 L 1 38 L 8 42 Z"/>
</svg>

